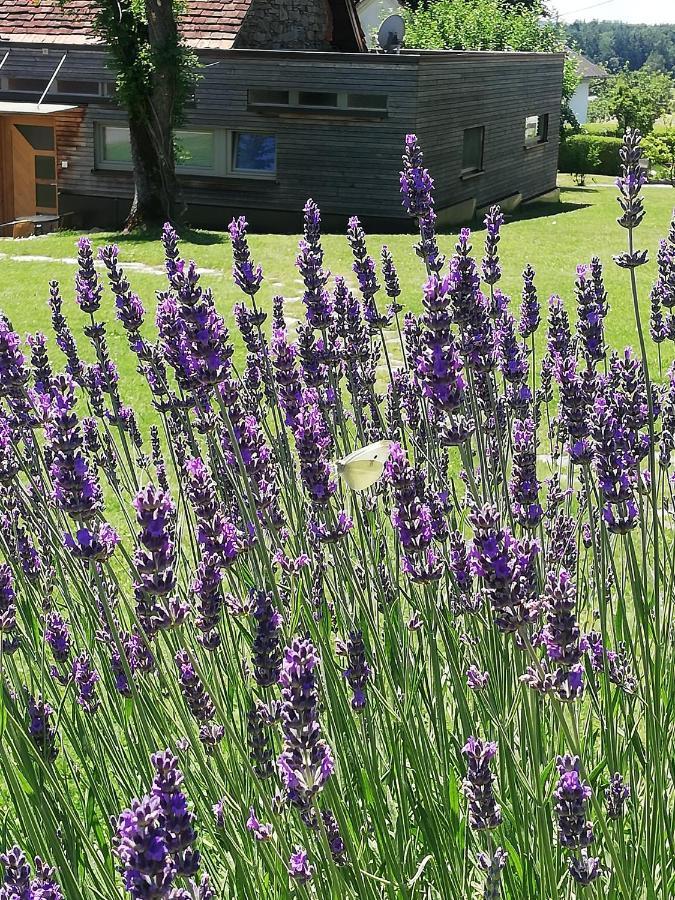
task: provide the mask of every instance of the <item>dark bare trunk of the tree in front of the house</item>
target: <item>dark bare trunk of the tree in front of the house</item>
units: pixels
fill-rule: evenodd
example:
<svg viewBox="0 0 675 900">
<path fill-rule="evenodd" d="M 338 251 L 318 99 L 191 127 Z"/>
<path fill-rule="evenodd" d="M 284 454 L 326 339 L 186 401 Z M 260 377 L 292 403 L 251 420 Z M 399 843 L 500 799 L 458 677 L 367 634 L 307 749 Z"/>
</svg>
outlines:
<svg viewBox="0 0 675 900">
<path fill-rule="evenodd" d="M 181 210 L 173 129 L 177 96 L 177 26 L 172 0 L 145 0 L 152 84 L 129 113 L 134 199 L 125 231 L 175 221 Z"/>
</svg>

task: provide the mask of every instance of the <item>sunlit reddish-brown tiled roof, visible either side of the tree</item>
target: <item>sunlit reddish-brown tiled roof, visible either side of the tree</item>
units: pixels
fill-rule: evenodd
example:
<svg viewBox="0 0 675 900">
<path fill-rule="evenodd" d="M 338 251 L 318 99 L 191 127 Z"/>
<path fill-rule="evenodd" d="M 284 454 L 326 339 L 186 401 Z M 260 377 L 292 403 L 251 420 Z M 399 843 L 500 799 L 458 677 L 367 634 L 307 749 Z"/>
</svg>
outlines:
<svg viewBox="0 0 675 900">
<path fill-rule="evenodd" d="M 252 0 L 189 0 L 181 17 L 186 40 L 197 46 L 232 45 Z M 57 37 L 73 43 L 94 39 L 93 0 L 0 0 L 0 37 L 36 42 Z"/>
</svg>

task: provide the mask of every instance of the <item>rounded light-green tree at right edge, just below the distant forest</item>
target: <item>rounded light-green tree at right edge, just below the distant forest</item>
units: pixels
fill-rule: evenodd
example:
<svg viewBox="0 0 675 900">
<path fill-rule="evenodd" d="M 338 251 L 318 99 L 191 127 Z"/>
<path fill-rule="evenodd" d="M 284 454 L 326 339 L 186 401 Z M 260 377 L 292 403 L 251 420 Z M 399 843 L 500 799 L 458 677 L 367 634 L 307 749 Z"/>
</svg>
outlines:
<svg viewBox="0 0 675 900">
<path fill-rule="evenodd" d="M 647 134 L 670 109 L 672 91 L 673 80 L 663 72 L 647 68 L 621 72 L 604 85 L 593 114 L 616 119 L 620 132 L 639 128 Z"/>
</svg>

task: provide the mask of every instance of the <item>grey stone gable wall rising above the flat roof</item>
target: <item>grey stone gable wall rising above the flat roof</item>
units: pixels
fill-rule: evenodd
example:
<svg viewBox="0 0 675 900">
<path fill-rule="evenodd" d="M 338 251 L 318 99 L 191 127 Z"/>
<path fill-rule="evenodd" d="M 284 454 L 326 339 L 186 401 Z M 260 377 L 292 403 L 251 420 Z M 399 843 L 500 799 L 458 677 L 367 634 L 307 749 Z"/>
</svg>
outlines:
<svg viewBox="0 0 675 900">
<path fill-rule="evenodd" d="M 265 50 L 330 50 L 329 0 L 253 0 L 235 46 Z"/>
</svg>

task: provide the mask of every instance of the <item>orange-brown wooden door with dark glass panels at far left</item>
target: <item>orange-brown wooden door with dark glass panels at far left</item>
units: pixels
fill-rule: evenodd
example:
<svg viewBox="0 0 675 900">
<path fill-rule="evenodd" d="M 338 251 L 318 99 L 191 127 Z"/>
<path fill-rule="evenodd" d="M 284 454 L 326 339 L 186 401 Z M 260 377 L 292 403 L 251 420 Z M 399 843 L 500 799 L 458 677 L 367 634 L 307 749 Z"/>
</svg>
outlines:
<svg viewBox="0 0 675 900">
<path fill-rule="evenodd" d="M 14 218 L 56 214 L 56 137 L 46 116 L 13 119 L 11 143 Z"/>
</svg>

